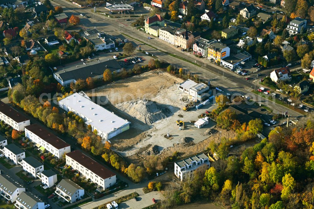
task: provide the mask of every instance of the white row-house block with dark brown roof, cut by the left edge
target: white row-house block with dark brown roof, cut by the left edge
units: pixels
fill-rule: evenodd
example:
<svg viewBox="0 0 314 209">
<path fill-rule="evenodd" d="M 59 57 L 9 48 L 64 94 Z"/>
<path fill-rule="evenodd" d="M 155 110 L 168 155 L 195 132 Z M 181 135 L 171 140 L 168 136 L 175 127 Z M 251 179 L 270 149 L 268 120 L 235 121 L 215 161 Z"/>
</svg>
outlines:
<svg viewBox="0 0 314 209">
<path fill-rule="evenodd" d="M 3 101 L 0 101 L 0 120 L 18 131 L 24 131 L 24 127 L 30 125 L 30 119 L 21 115 Z"/>
</svg>

